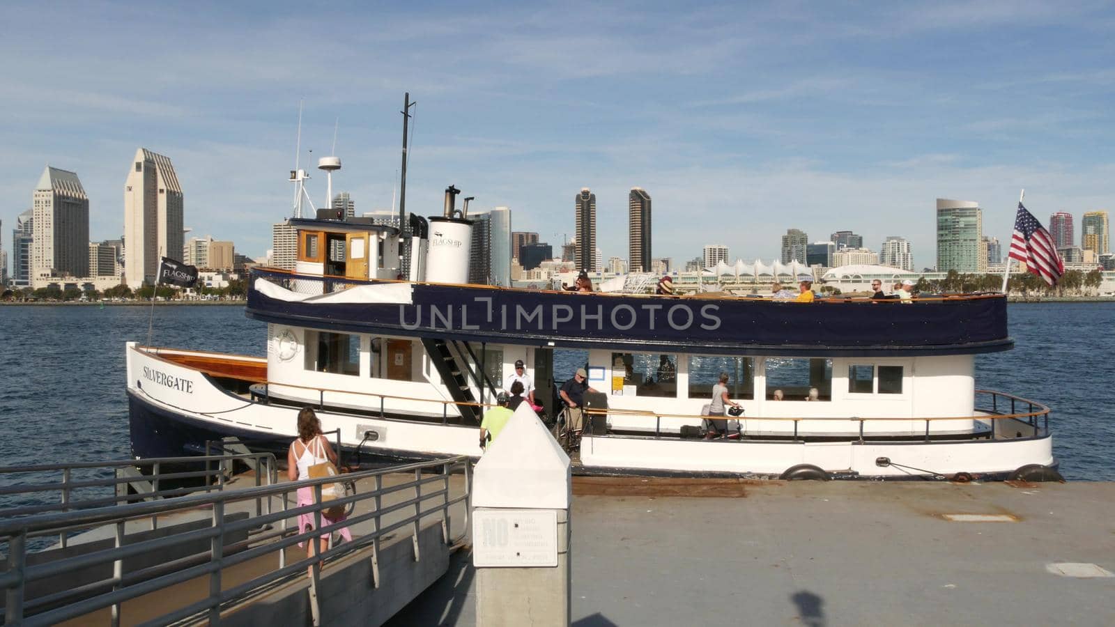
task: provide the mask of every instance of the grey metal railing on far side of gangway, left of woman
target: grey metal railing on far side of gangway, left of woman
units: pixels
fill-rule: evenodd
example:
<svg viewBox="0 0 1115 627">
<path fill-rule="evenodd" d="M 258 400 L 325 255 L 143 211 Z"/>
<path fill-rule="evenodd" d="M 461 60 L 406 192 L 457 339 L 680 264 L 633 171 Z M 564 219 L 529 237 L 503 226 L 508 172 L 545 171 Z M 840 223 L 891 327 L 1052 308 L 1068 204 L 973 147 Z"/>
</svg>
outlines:
<svg viewBox="0 0 1115 627">
<path fill-rule="evenodd" d="M 169 499 L 196 492 L 224 491 L 236 461 L 253 464 L 255 485 L 275 483 L 275 456 L 271 453 L 191 455 L 64 464 L 25 464 L 0 466 L 0 502 L 28 502 L 0 510 L 6 519 L 20 519 L 51 512 L 75 512 L 130 503 L 137 500 Z M 201 470 L 184 470 L 204 466 Z M 171 472 L 165 472 L 171 469 Z M 43 480 L 43 475 L 47 476 Z M 60 475 L 60 476 L 59 476 Z M 57 480 L 51 478 L 58 476 Z M 129 488 L 132 489 L 129 493 Z M 112 496 L 104 495 L 112 491 Z M 262 511 L 256 501 L 256 513 Z M 151 529 L 158 519 L 151 518 Z M 60 525 L 58 544 L 66 547 L 74 528 Z M 30 538 L 42 533 L 29 533 Z"/>
</svg>

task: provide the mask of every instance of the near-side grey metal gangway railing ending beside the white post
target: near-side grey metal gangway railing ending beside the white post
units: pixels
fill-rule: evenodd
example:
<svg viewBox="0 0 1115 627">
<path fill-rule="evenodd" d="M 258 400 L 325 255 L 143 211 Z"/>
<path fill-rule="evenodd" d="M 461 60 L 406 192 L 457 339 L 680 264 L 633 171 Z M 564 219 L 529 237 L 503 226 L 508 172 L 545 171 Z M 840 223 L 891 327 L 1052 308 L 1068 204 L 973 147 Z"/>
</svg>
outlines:
<svg viewBox="0 0 1115 627">
<path fill-rule="evenodd" d="M 236 457 L 237 455 L 231 456 Z M 192 460 L 201 460 L 201 457 L 192 457 Z M 135 461 L 128 463 L 135 463 Z M 166 461 L 163 460 L 161 463 L 166 463 Z M 424 476 L 424 471 L 435 474 Z M 391 473 L 413 473 L 414 479 L 387 485 L 384 481 L 385 476 Z M 450 495 L 449 480 L 450 475 L 455 473 L 463 473 L 464 490 L 454 496 Z M 372 488 L 322 502 L 322 485 L 337 482 L 338 479 L 356 484 L 370 481 Z M 460 538 L 450 538 L 449 536 L 449 509 L 460 502 L 465 503 L 464 529 L 467 533 L 471 484 L 472 469 L 468 457 L 457 456 L 348 473 L 340 478 L 309 479 L 239 490 L 213 490 L 211 488 L 210 491 L 202 493 L 91 509 L 76 509 L 77 504 L 70 502 L 67 507 L 71 511 L 58 511 L 64 509 L 59 503 L 52 505 L 54 511 L 42 511 L 19 518 L 10 515 L 8 511 L 0 510 L 0 547 L 7 549 L 8 557 L 4 571 L 0 575 L 0 588 L 4 591 L 6 600 L 3 623 L 4 625 L 28 626 L 52 625 L 110 608 L 112 624 L 116 626 L 119 625 L 122 605 L 125 601 L 194 579 L 207 578 L 209 592 L 204 598 L 188 602 L 183 607 L 172 608 L 152 623 L 207 620 L 211 624 L 219 624 L 222 611 L 240 607 L 280 583 L 307 577 L 309 569 L 310 608 L 313 621 L 318 624 L 321 608 L 318 605 L 317 590 L 320 586 L 321 569 L 326 562 L 338 560 L 356 551 L 370 549 L 372 585 L 375 588 L 379 588 L 380 576 L 377 556 L 380 542 L 388 534 L 400 529 L 408 529 L 411 534 L 414 559 L 419 561 L 418 537 L 420 523 L 424 520 L 440 517 L 442 540 L 446 546 L 453 546 L 460 540 Z M 313 489 L 313 503 L 290 507 L 291 503 L 297 503 L 297 499 L 291 498 L 292 493 L 297 492 L 299 488 L 307 486 Z M 387 505 L 384 504 L 385 498 L 407 496 L 409 491 L 413 491 L 413 495 L 409 498 Z M 279 500 L 281 508 L 272 508 L 272 499 Z M 263 501 L 266 507 L 263 510 L 256 510 L 258 515 L 254 517 L 235 519 L 226 517 L 227 513 L 236 511 L 237 503 L 246 503 L 251 509 L 252 501 Z M 86 503 L 88 504 L 88 502 Z M 357 503 L 368 504 L 371 509 L 362 513 L 357 511 L 346 520 L 334 523 L 323 520 L 323 510 L 337 505 L 349 509 Z M 154 521 L 159 515 L 198 510 L 207 511 L 207 524 L 201 528 L 135 542 L 125 541 L 125 523 L 128 521 L 146 519 Z M 297 520 L 300 514 L 313 517 L 314 529 L 309 531 L 292 529 L 295 525 L 290 525 L 289 522 Z M 385 521 L 385 518 L 388 521 Z M 351 542 L 332 544 L 331 539 L 334 532 L 361 523 L 370 524 L 370 530 L 355 536 Z M 28 565 L 27 562 L 28 540 L 30 539 L 103 527 L 114 529 L 114 540 L 110 548 L 43 563 Z M 246 540 L 225 543 L 225 538 L 230 534 L 244 532 L 252 533 L 252 536 Z M 330 546 L 322 551 L 316 540 L 327 533 L 330 538 Z M 133 572 L 124 572 L 124 561 L 129 558 L 169 551 L 175 548 L 181 549 L 184 544 L 200 540 L 209 542 L 207 551 Z M 310 542 L 311 554 L 288 563 L 285 549 L 299 542 Z M 266 572 L 231 587 L 222 586 L 222 572 L 225 569 L 250 560 L 266 559 L 266 556 L 274 556 L 277 568 L 269 568 Z M 104 568 L 105 565 L 112 565 L 112 575 L 108 577 L 43 597 L 26 597 L 27 588 L 31 583 L 62 576 L 76 569 L 98 566 Z"/>
</svg>

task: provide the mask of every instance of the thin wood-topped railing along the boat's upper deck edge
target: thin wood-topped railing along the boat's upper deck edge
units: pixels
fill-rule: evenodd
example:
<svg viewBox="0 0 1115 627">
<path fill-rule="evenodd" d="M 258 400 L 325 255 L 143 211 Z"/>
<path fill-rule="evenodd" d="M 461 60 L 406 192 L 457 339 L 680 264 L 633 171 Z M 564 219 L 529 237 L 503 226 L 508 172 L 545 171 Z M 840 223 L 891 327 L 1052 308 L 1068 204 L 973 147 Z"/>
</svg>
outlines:
<svg viewBox="0 0 1115 627">
<path fill-rule="evenodd" d="M 474 288 L 474 289 L 486 289 L 486 290 L 512 290 L 512 291 L 531 291 L 531 292 L 554 292 L 554 293 L 578 293 L 578 296 L 583 297 L 584 293 L 570 292 L 565 290 L 553 290 L 553 289 L 527 289 L 527 288 L 514 288 L 506 286 L 488 286 L 488 284 L 477 284 L 477 283 L 438 283 L 433 281 L 408 281 L 403 279 L 353 279 L 351 277 L 341 277 L 337 274 L 309 274 L 304 272 L 298 272 L 295 270 L 287 270 L 282 268 L 252 268 L 252 274 L 254 277 L 260 277 L 266 279 L 268 281 L 275 283 L 282 288 L 291 290 L 297 293 L 330 293 L 334 291 L 341 291 L 357 286 L 368 286 L 374 283 L 411 283 L 419 286 L 444 286 L 454 288 Z M 766 283 L 763 283 L 766 286 Z M 594 291 L 590 292 L 589 296 L 600 296 L 600 297 L 639 297 L 639 298 L 670 298 L 670 299 L 686 299 L 691 297 L 699 297 L 707 300 L 760 300 L 760 301 L 774 301 L 786 305 L 797 303 L 795 299 L 773 299 L 770 295 L 758 295 L 758 293 L 746 293 L 746 295 L 734 295 L 724 292 L 695 292 L 687 295 L 656 295 L 656 293 L 627 293 L 627 292 L 602 292 Z M 914 296 L 912 302 L 922 303 L 940 303 L 940 302 L 957 302 L 962 300 L 981 300 L 988 298 L 1006 298 L 1006 295 L 1001 292 L 973 292 L 973 293 L 946 293 L 946 295 L 927 295 L 927 296 Z M 873 300 L 870 296 L 818 296 L 813 302 L 840 302 L 840 303 L 866 303 L 866 305 L 909 305 L 910 301 L 902 301 L 898 298 Z M 807 303 L 801 303 L 807 305 Z"/>
</svg>

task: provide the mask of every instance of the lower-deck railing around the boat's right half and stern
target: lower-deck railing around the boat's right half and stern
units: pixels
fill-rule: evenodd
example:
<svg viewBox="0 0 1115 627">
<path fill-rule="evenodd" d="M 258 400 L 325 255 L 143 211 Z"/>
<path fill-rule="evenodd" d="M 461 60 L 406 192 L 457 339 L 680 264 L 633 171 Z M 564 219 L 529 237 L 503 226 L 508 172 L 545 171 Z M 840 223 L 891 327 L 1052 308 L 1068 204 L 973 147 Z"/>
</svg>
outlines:
<svg viewBox="0 0 1115 627">
<path fill-rule="evenodd" d="M 1036 401 L 1029 401 L 1020 396 L 1015 396 L 1012 394 L 1007 394 L 1004 392 L 993 392 L 988 389 L 977 389 L 977 398 L 980 395 L 990 398 L 990 407 L 980 406 L 977 404 L 976 411 L 980 412 L 978 415 L 967 415 L 967 416 L 931 416 L 931 417 L 914 417 L 914 416 L 850 416 L 850 417 L 832 417 L 832 416 L 712 416 L 716 419 L 728 419 L 728 421 L 763 421 L 763 422 L 792 422 L 794 424 L 794 441 L 801 438 L 798 426 L 801 423 L 851 423 L 856 425 L 859 435 L 853 437 L 859 442 L 863 442 L 865 436 L 871 434 L 865 434 L 864 425 L 866 423 L 911 423 L 911 422 L 924 422 L 925 423 L 925 436 L 927 442 L 930 441 L 930 426 L 933 423 L 948 422 L 948 421 L 971 421 L 973 418 L 986 419 L 986 421 L 1007 421 L 1016 419 L 1022 421 L 1028 426 L 1034 430 L 1034 437 L 1044 437 L 1049 434 L 1049 407 L 1038 403 Z M 1006 409 L 1009 405 L 1010 412 L 1004 413 L 999 411 L 999 407 Z M 1026 411 L 1019 411 L 1020 407 L 1025 405 Z M 649 409 L 617 409 L 617 408 L 585 408 L 584 413 L 590 417 L 595 416 L 609 416 L 609 415 L 622 415 L 622 416 L 644 416 L 648 419 L 655 421 L 655 437 L 661 437 L 662 435 L 662 419 L 707 419 L 709 416 L 700 414 L 679 414 L 679 413 L 660 413 L 651 412 Z M 591 431 L 586 428 L 585 431 Z M 993 427 L 992 427 L 993 433 Z M 991 435 L 990 433 L 988 434 Z"/>
</svg>

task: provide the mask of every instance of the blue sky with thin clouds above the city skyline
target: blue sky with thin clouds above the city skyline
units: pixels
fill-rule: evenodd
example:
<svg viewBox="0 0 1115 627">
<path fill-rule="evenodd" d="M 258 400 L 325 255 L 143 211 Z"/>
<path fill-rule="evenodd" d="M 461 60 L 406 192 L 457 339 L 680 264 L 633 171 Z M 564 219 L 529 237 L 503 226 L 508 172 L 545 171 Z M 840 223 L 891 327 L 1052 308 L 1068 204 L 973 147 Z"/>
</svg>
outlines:
<svg viewBox="0 0 1115 627">
<path fill-rule="evenodd" d="M 123 231 L 136 147 L 174 162 L 195 235 L 255 257 L 302 163 L 389 208 L 404 91 L 418 102 L 407 208 L 455 184 L 558 244 L 591 187 L 598 245 L 627 258 L 627 195 L 653 199 L 656 257 L 706 243 L 769 259 L 787 228 L 913 242 L 934 199 L 1006 239 L 1019 187 L 1043 221 L 1113 209 L 1109 2 L 8 2 L 0 219 L 10 250 L 45 164 L 74 170 L 90 235 Z M 317 174 L 317 173 L 316 173 Z M 324 179 L 310 181 L 319 205 Z"/>
</svg>

